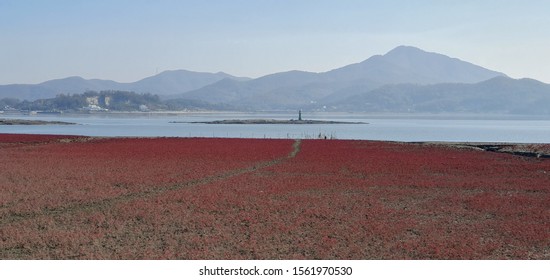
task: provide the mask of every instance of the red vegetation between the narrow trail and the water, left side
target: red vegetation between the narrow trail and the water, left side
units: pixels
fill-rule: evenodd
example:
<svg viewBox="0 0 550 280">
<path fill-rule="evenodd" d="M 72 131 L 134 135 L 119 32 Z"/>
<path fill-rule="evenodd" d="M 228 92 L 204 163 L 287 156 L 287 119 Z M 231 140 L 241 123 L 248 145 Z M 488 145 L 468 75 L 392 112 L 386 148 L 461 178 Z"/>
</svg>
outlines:
<svg viewBox="0 0 550 280">
<path fill-rule="evenodd" d="M 0 213 L 28 215 L 190 182 L 273 160 L 290 152 L 291 143 L 82 138 L 2 149 L 0 206 L 10 207 L 0 208 Z"/>
</svg>

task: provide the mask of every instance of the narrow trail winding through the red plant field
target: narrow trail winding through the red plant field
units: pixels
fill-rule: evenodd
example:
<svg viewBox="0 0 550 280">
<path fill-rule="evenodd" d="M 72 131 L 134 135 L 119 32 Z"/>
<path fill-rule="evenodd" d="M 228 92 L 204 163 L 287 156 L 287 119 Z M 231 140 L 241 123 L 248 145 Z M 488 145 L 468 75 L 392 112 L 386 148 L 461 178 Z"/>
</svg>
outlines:
<svg viewBox="0 0 550 280">
<path fill-rule="evenodd" d="M 112 198 L 107 198 L 99 201 L 92 201 L 92 202 L 87 202 L 82 204 L 73 204 L 73 205 L 61 206 L 61 207 L 55 207 L 55 208 L 47 208 L 47 209 L 42 209 L 39 212 L 33 212 L 33 213 L 13 213 L 5 217 L 2 217 L 2 220 L 0 220 L 0 226 L 12 224 L 12 223 L 16 223 L 24 220 L 31 220 L 31 219 L 35 219 L 43 216 L 57 216 L 57 215 L 70 214 L 70 213 L 76 213 L 76 212 L 87 212 L 87 211 L 97 211 L 97 210 L 107 209 L 121 202 L 128 202 L 136 199 L 152 198 L 160 194 L 163 194 L 165 192 L 176 191 L 176 190 L 196 187 L 200 185 L 206 185 L 213 182 L 226 180 L 242 174 L 256 172 L 262 168 L 281 164 L 289 159 L 296 157 L 296 155 L 298 155 L 298 153 L 300 152 L 301 143 L 302 142 L 300 139 L 296 139 L 292 145 L 292 151 L 288 155 L 271 160 L 271 161 L 257 162 L 256 164 L 248 167 L 233 169 L 220 174 L 206 176 L 200 179 L 178 183 L 171 186 L 157 187 L 157 188 L 151 188 L 151 189 L 147 189 L 139 192 L 123 194 L 123 195 L 119 195 L 119 196 L 115 196 Z"/>
</svg>

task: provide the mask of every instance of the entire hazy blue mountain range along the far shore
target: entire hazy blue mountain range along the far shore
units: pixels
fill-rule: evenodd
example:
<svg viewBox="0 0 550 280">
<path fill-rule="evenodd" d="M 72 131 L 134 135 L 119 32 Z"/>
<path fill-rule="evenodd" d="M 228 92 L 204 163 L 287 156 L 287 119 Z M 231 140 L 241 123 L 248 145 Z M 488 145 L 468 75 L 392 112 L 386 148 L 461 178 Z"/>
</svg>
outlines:
<svg viewBox="0 0 550 280">
<path fill-rule="evenodd" d="M 511 79 L 472 63 L 400 46 L 327 72 L 288 71 L 256 79 L 222 72 L 166 71 L 134 83 L 70 77 L 0 86 L 0 98 L 39 99 L 86 90 L 128 90 L 165 102 L 239 110 L 550 114 L 550 85 Z"/>
</svg>

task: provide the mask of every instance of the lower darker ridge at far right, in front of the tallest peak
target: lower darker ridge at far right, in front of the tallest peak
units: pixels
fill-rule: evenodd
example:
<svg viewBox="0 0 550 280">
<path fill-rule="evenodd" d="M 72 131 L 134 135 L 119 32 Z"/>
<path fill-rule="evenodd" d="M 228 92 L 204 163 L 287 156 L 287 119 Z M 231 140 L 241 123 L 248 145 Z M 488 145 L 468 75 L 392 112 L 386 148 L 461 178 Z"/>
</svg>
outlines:
<svg viewBox="0 0 550 280">
<path fill-rule="evenodd" d="M 432 85 L 397 84 L 351 96 L 331 105 L 337 111 L 392 113 L 550 114 L 550 85 L 532 79 Z"/>
</svg>

